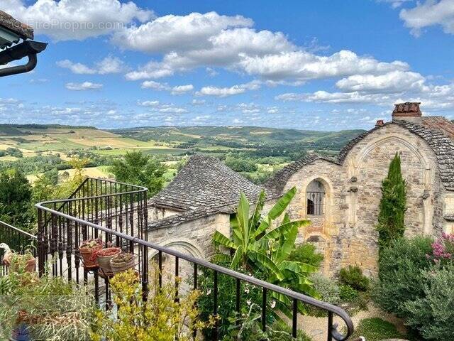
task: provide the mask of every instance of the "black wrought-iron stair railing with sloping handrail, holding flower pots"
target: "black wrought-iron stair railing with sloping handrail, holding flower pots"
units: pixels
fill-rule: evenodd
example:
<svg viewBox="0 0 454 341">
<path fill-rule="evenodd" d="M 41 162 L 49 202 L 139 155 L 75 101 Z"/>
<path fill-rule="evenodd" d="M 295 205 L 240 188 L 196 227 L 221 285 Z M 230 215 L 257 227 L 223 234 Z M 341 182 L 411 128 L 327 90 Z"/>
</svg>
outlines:
<svg viewBox="0 0 454 341">
<path fill-rule="evenodd" d="M 102 189 L 101 189 L 102 188 Z M 297 315 L 299 304 L 308 304 L 328 313 L 327 334 L 329 340 L 343 341 L 353 333 L 353 323 L 345 311 L 336 305 L 325 303 L 301 293 L 282 288 L 258 278 L 226 269 L 209 261 L 196 259 L 175 249 L 161 247 L 148 242 L 148 207 L 147 189 L 110 180 L 88 178 L 84 184 L 67 200 L 52 200 L 40 202 L 38 209 L 38 264 L 39 272 L 43 274 L 44 264 L 48 255 L 55 255 L 52 262 L 52 274 L 65 276 L 68 280 L 88 285 L 89 277 L 94 280 L 94 298 L 100 301 L 100 279 L 104 279 L 105 305 L 111 305 L 109 291 L 109 276 L 99 269 L 89 268 L 81 264 L 79 254 L 80 244 L 90 238 L 101 238 L 105 246 L 112 244 L 127 249 L 138 255 L 138 270 L 143 293 L 148 293 L 148 262 L 149 254 L 157 252 L 157 264 L 160 270 L 159 283 L 162 285 L 163 254 L 175 258 L 175 276 L 179 276 L 179 260 L 192 264 L 194 269 L 193 286 L 198 288 L 199 271 L 210 269 L 214 271 L 214 290 L 212 292 L 214 310 L 218 315 L 218 275 L 236 278 L 236 311 L 240 311 L 240 285 L 242 282 L 262 288 L 262 328 L 266 328 L 267 295 L 277 293 L 289 298 L 292 311 L 292 335 L 297 336 Z M 80 276 L 82 272 L 83 277 Z M 178 285 L 177 283 L 175 285 Z M 333 323 L 337 315 L 345 323 L 345 335 L 337 330 Z M 212 340 L 218 340 L 218 323 L 214 325 Z"/>
</svg>

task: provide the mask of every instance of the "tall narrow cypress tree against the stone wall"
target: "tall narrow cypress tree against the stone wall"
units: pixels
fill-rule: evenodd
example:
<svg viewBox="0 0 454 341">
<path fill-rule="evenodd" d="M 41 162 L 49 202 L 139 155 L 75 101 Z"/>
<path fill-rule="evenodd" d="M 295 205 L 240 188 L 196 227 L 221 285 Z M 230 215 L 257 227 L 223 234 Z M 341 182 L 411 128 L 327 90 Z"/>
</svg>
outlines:
<svg viewBox="0 0 454 341">
<path fill-rule="evenodd" d="M 382 182 L 382 200 L 377 224 L 380 253 L 393 239 L 404 235 L 405 211 L 406 182 L 402 178 L 400 156 L 396 153 L 389 164 L 388 176 Z"/>
</svg>

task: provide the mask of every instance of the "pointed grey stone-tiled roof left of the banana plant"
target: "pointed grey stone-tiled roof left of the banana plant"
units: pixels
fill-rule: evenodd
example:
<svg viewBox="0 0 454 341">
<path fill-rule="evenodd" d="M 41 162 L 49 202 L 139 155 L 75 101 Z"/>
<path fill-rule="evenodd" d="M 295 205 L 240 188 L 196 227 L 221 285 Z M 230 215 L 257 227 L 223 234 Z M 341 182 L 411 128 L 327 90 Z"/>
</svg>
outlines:
<svg viewBox="0 0 454 341">
<path fill-rule="evenodd" d="M 237 204 L 241 191 L 255 200 L 261 190 L 217 158 L 196 155 L 150 203 L 176 210 L 212 210 Z"/>
</svg>

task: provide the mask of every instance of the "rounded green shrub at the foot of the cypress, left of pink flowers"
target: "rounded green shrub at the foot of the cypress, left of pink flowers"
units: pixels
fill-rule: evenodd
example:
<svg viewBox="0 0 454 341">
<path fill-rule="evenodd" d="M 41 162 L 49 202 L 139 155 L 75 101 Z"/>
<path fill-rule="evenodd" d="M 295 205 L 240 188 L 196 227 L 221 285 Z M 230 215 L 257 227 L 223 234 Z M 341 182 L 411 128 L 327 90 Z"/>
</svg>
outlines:
<svg viewBox="0 0 454 341">
<path fill-rule="evenodd" d="M 405 303 L 424 296 L 426 278 L 421 270 L 433 267 L 433 261 L 426 257 L 432 251 L 432 243 L 431 237 L 401 238 L 382 251 L 380 280 L 372 291 L 380 308 L 400 318 L 409 316 Z"/>
</svg>

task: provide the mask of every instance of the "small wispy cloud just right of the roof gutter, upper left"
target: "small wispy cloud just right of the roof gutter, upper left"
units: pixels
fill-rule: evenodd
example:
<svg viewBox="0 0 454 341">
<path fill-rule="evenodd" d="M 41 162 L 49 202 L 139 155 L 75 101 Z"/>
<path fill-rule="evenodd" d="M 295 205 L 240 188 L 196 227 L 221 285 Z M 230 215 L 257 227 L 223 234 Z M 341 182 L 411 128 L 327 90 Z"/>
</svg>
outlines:
<svg viewBox="0 0 454 341">
<path fill-rule="evenodd" d="M 109 73 L 123 72 L 126 69 L 123 60 L 110 56 L 95 63 L 93 67 L 89 67 L 82 63 L 72 63 L 71 60 L 67 59 L 59 60 L 57 66 L 69 69 L 72 73 L 78 75 L 106 75 Z"/>
</svg>

